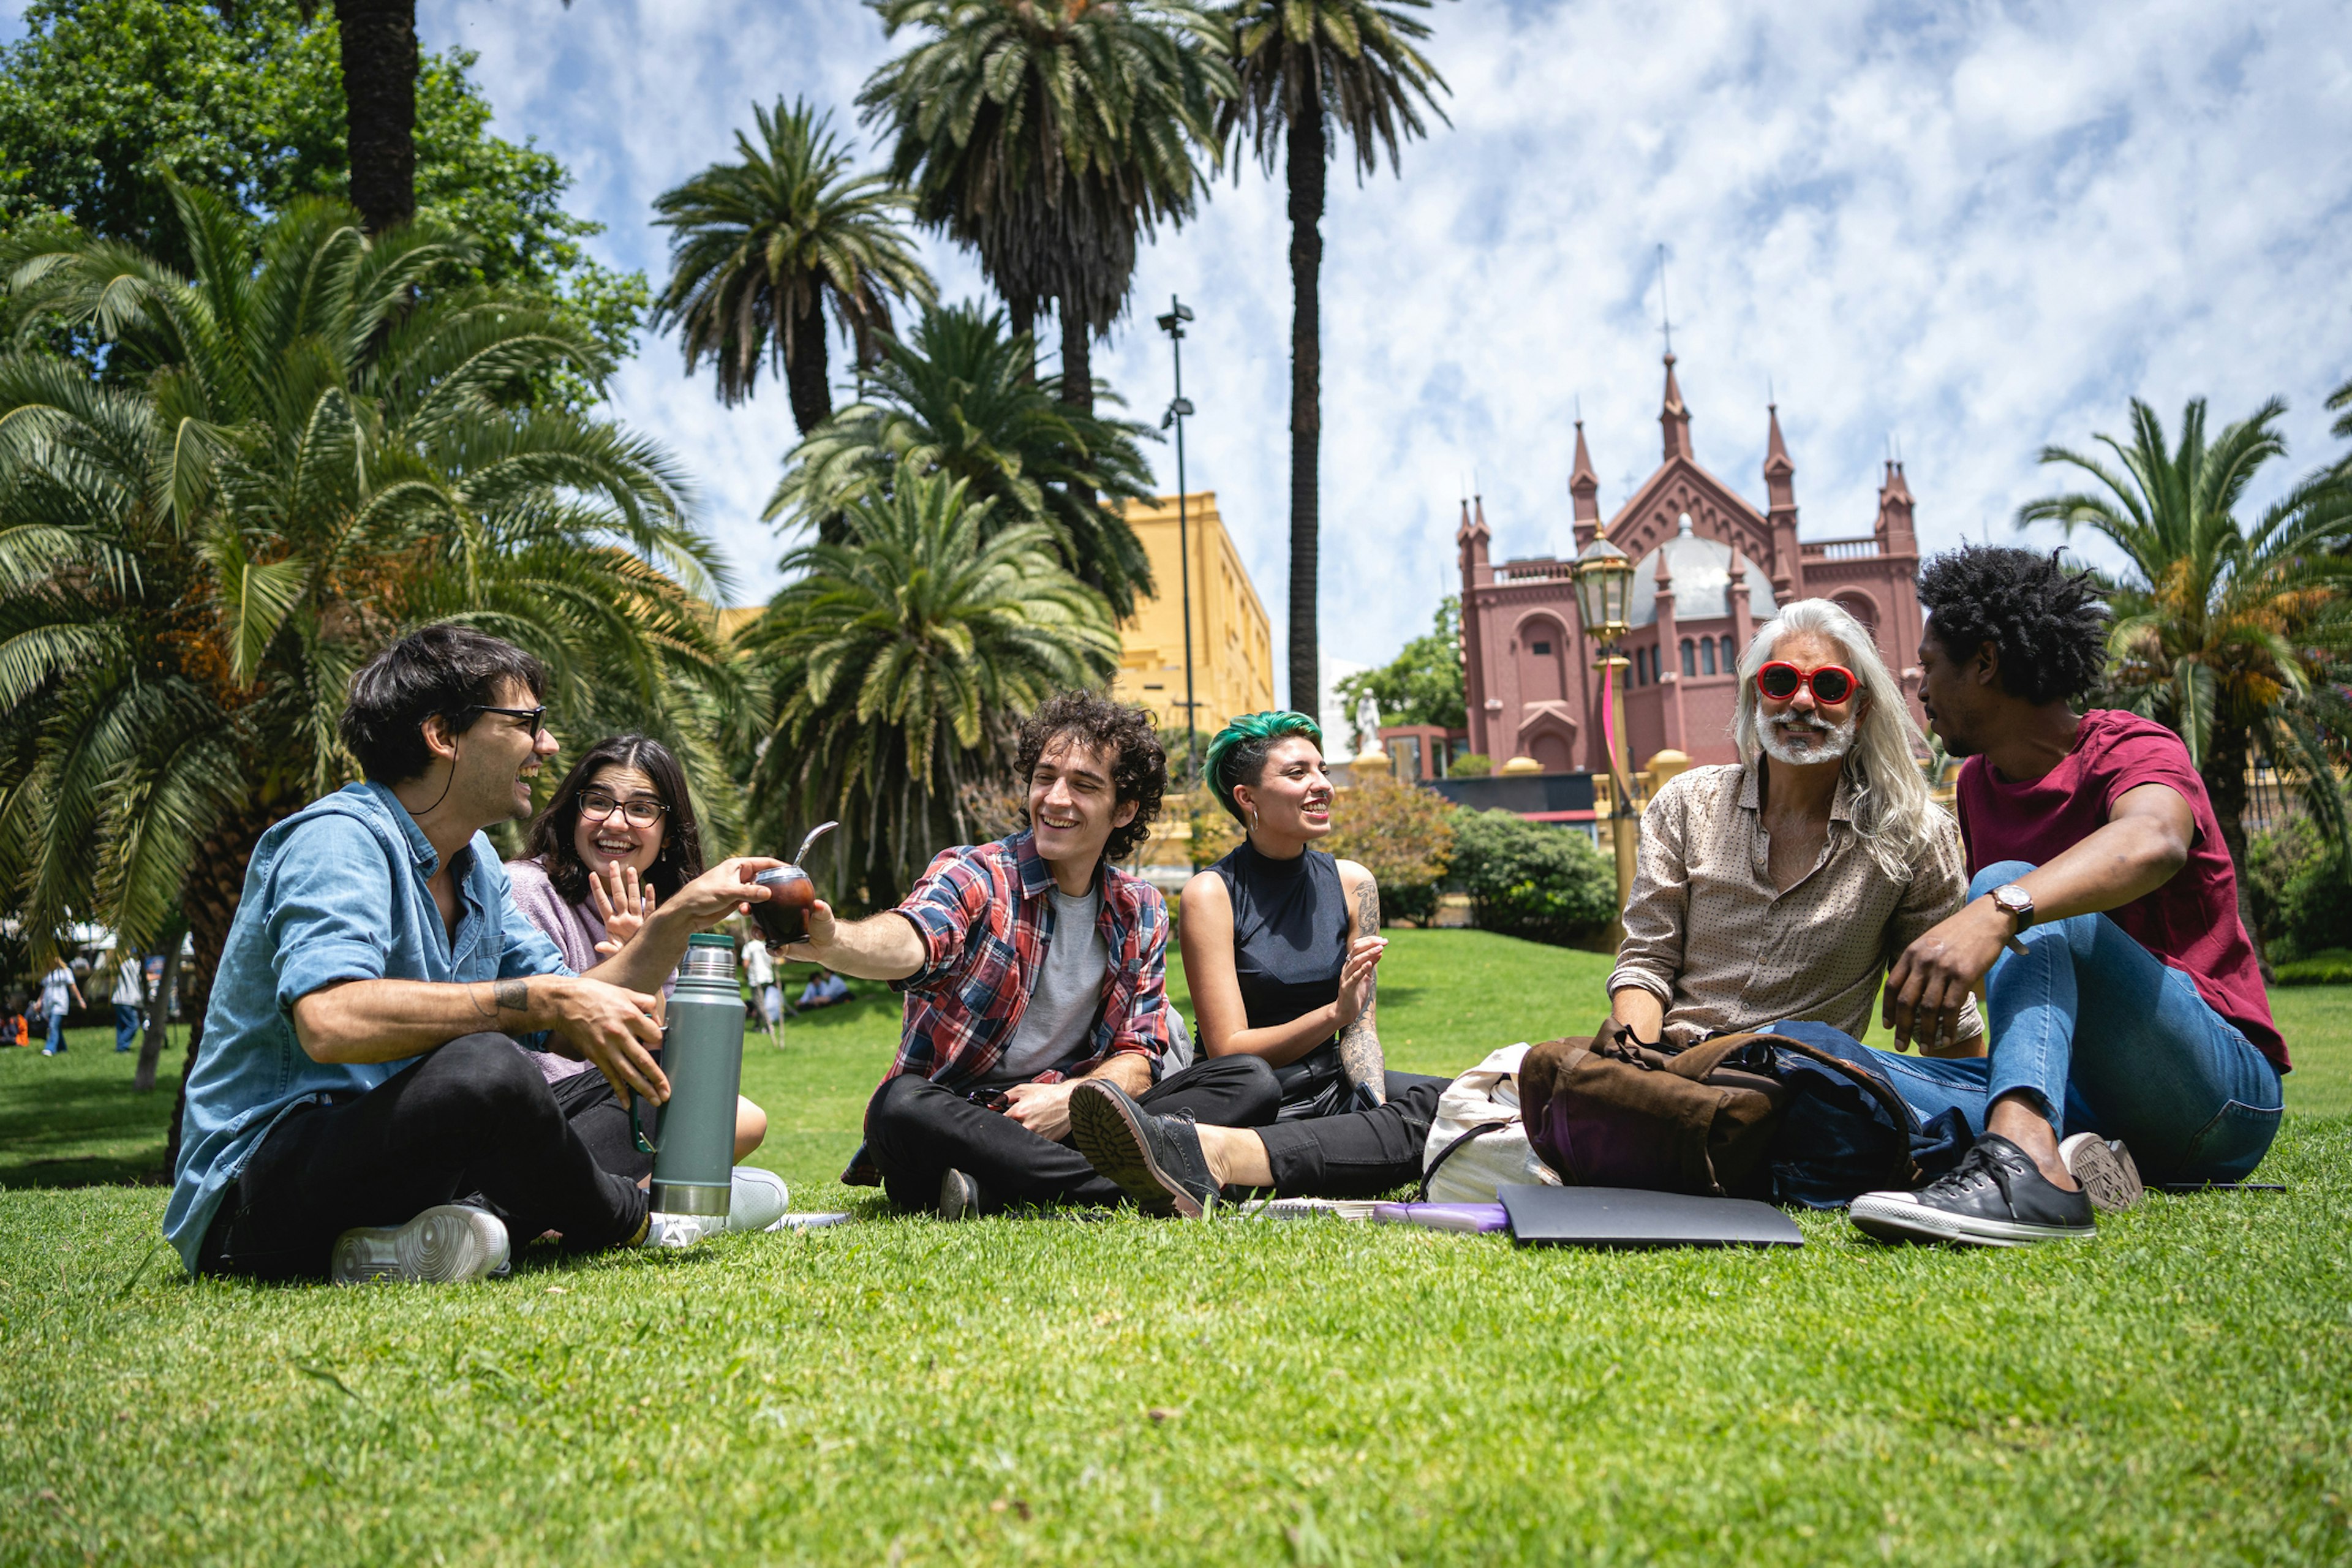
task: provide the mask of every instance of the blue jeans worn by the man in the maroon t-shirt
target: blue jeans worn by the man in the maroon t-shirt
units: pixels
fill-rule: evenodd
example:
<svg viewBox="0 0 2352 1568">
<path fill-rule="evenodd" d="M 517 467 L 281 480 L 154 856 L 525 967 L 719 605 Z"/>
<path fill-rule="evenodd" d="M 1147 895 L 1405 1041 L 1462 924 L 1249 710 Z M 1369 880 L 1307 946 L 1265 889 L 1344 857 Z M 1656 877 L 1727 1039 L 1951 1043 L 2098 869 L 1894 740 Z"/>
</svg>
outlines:
<svg viewBox="0 0 2352 1568">
<path fill-rule="evenodd" d="M 1969 898 L 2032 872 L 1987 865 Z M 2051 1128 L 2122 1138 L 2147 1180 L 2232 1182 L 2263 1164 L 2279 1131 L 2279 1070 L 2197 985 L 2105 914 L 2032 926 L 2025 954 L 1985 976 L 1992 1056 L 1877 1051 L 1922 1117 L 1957 1107 L 1976 1133 L 1985 1107 L 2023 1093 Z"/>
</svg>

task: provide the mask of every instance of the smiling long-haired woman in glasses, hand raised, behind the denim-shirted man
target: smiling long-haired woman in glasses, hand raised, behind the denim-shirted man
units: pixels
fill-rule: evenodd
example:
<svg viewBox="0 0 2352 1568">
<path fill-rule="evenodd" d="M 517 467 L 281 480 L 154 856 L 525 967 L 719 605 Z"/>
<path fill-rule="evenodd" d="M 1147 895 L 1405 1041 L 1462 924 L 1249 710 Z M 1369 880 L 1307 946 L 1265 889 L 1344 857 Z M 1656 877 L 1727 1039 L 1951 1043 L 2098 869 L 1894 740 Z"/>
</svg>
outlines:
<svg viewBox="0 0 2352 1568">
<path fill-rule="evenodd" d="M 621 952 L 652 919 L 656 905 L 703 875 L 703 837 L 694 818 L 687 771 L 652 736 L 609 736 L 572 764 L 546 809 L 532 818 L 527 851 L 506 863 L 515 907 L 539 926 L 574 973 Z M 675 978 L 661 983 L 663 994 Z M 628 1105 L 595 1063 L 532 1048 L 572 1128 L 595 1161 L 644 1182 L 654 1157 L 637 1147 Z M 736 1147 L 743 1159 L 767 1138 L 767 1112 L 736 1095 Z M 774 1171 L 736 1166 L 731 1229 L 757 1229 L 781 1218 L 783 1182 Z"/>
</svg>

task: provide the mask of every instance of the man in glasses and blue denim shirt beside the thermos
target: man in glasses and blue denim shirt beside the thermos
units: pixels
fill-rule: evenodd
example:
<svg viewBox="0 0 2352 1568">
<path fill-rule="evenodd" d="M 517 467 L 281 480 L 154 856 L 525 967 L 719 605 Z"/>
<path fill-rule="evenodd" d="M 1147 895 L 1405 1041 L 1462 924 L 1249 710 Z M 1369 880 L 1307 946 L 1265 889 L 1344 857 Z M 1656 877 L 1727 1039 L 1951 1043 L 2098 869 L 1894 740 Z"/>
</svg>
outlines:
<svg viewBox="0 0 2352 1568">
<path fill-rule="evenodd" d="M 261 835 L 212 983 L 165 1208 L 188 1269 L 447 1281 L 543 1229 L 569 1251 L 701 1239 L 597 1166 L 513 1037 L 553 1032 L 666 1100 L 661 980 L 776 860 L 720 863 L 574 976 L 482 832 L 532 811 L 557 750 L 543 691 L 536 658 L 454 625 L 353 677 L 341 738 L 367 783 Z"/>
</svg>

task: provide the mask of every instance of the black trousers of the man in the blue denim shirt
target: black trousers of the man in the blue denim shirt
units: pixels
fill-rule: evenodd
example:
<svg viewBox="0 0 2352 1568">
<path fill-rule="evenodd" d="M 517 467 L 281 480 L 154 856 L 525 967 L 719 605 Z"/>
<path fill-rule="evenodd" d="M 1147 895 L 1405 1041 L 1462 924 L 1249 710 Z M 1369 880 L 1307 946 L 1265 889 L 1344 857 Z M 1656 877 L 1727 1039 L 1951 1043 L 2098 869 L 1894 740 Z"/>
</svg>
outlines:
<svg viewBox="0 0 2352 1568">
<path fill-rule="evenodd" d="M 223 1194 L 198 1269 L 318 1276 L 346 1229 L 475 1194 L 517 1251 L 543 1229 L 597 1251 L 644 1225 L 637 1182 L 597 1166 L 522 1048 L 461 1034 L 362 1095 L 287 1112 Z"/>
</svg>

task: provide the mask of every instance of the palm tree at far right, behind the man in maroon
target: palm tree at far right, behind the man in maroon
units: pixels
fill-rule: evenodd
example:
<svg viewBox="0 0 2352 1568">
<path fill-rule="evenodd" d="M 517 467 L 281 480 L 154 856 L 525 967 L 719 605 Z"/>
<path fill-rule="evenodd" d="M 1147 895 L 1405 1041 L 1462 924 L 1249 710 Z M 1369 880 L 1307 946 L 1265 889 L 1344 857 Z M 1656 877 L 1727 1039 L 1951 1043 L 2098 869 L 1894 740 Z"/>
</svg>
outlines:
<svg viewBox="0 0 2352 1568">
<path fill-rule="evenodd" d="M 2343 588 L 2352 562 L 2331 555 L 2352 534 L 2340 496 L 2317 475 L 2270 505 L 2249 529 L 2237 517 L 2246 487 L 2286 454 L 2277 397 L 2206 440 L 2206 404 L 2180 416 L 2166 449 L 2164 423 L 2131 400 L 2131 442 L 2098 435 L 2114 463 L 2044 447 L 2044 463 L 2091 475 L 2098 489 L 2044 496 L 2018 524 L 2091 529 L 2124 552 L 2129 574 L 2110 588 L 2110 701 L 2180 733 L 2204 778 L 2237 865 L 2246 905 L 2246 769 L 2253 759 L 2303 780 L 2303 797 L 2331 839 L 2345 837 L 2336 785 L 2352 733 L 2352 618 Z"/>
</svg>

